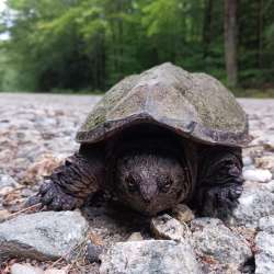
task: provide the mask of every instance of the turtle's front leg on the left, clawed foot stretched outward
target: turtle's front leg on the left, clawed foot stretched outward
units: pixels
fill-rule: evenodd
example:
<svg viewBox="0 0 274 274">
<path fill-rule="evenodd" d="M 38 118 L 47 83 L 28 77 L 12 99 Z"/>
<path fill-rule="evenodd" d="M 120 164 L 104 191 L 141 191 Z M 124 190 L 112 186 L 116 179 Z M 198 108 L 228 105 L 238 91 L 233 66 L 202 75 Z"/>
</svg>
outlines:
<svg viewBox="0 0 274 274">
<path fill-rule="evenodd" d="M 75 153 L 53 171 L 27 205 L 42 203 L 48 209 L 70 210 L 100 190 L 104 164 L 99 157 Z"/>
</svg>

